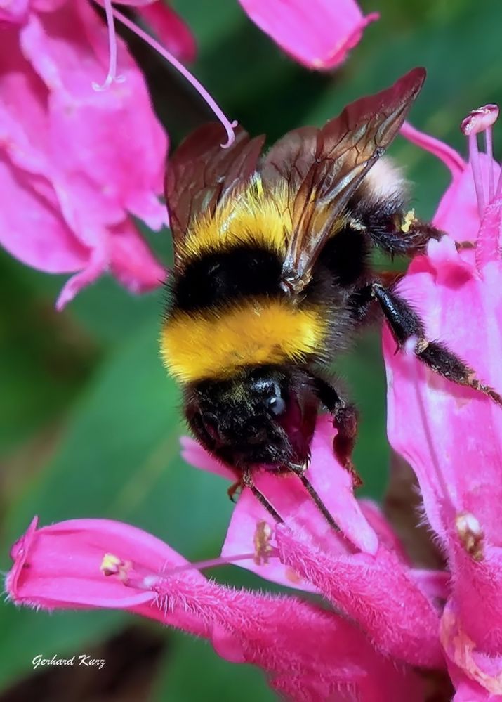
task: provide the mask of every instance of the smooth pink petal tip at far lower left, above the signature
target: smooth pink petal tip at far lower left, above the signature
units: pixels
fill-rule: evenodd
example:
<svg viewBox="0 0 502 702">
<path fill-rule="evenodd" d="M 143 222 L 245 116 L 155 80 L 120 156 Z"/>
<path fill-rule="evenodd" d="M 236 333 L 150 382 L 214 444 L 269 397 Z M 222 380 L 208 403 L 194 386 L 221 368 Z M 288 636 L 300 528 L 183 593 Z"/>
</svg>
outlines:
<svg viewBox="0 0 502 702">
<path fill-rule="evenodd" d="M 6 590 L 16 604 L 51 609 L 69 604 L 127 608 L 137 595 L 138 604 L 152 601 L 152 592 L 126 588 L 120 580 L 106 578 L 100 569 L 105 554 L 124 561 L 134 555 L 137 568 L 158 573 L 167 566 L 187 563 L 159 539 L 120 522 L 72 519 L 36 526 L 33 521 L 11 550 L 15 566 L 7 576 Z M 204 580 L 197 571 L 185 577 Z"/>
</svg>

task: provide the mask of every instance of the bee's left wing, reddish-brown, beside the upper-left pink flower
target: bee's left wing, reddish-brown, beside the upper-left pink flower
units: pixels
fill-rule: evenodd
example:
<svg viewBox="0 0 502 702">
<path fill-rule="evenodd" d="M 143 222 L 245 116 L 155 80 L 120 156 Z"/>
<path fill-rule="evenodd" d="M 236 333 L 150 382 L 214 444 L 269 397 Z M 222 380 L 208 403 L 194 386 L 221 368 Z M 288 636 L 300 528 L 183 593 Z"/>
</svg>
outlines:
<svg viewBox="0 0 502 702">
<path fill-rule="evenodd" d="M 180 265 L 180 244 L 191 221 L 202 212 L 213 213 L 218 202 L 256 170 L 265 137 L 249 138 L 237 127 L 235 141 L 221 148 L 227 134 L 219 122 L 204 124 L 188 136 L 168 162 L 164 190 L 175 268 Z"/>
</svg>

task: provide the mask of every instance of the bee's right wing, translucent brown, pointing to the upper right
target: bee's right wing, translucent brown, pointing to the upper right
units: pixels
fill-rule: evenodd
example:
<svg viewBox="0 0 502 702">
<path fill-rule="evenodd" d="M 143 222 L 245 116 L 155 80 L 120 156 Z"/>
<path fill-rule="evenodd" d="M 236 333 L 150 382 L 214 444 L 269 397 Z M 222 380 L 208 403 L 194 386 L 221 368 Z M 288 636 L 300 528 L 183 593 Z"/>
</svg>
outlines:
<svg viewBox="0 0 502 702">
<path fill-rule="evenodd" d="M 284 290 L 300 293 L 333 225 L 371 166 L 399 131 L 425 70 L 415 68 L 390 88 L 348 105 L 322 129 L 286 134 L 265 156 L 264 186 L 286 183 L 293 223 L 282 268 Z"/>
</svg>

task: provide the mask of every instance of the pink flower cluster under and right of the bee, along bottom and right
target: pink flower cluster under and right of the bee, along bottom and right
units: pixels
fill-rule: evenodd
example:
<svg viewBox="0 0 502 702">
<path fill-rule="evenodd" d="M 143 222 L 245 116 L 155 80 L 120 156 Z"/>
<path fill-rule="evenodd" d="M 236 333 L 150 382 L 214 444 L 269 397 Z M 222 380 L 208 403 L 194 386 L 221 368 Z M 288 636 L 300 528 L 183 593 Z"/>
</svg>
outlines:
<svg viewBox="0 0 502 702">
<path fill-rule="evenodd" d="M 502 388 L 501 188 L 491 156 L 488 106 L 464 124 L 470 162 L 409 126 L 405 134 L 440 157 L 452 183 L 435 217 L 448 233 L 431 242 L 400 283 L 430 338 L 447 342 L 482 379 Z M 478 129 L 487 134 L 480 154 Z M 473 178 L 473 174 L 475 177 Z M 464 242 L 461 247 L 456 242 Z M 465 245 L 465 242 L 472 242 Z M 126 524 L 74 520 L 37 529 L 15 544 L 6 580 L 16 604 L 57 609 L 128 609 L 209 639 L 220 656 L 253 663 L 272 688 L 297 701 L 425 698 L 419 670 L 448 670 L 456 702 L 502 694 L 502 410 L 447 382 L 413 354 L 395 354 L 384 330 L 388 433 L 411 464 L 445 571 L 414 566 L 392 525 L 353 495 L 352 476 L 333 457 L 334 429 L 321 417 L 310 480 L 340 527 L 334 532 L 291 474 L 258 474 L 257 487 L 284 519 L 274 524 L 248 488 L 240 495 L 220 558 L 189 564 Z M 187 462 L 233 474 L 197 443 Z M 265 595 L 216 585 L 202 570 L 235 563 L 301 594 Z"/>
</svg>

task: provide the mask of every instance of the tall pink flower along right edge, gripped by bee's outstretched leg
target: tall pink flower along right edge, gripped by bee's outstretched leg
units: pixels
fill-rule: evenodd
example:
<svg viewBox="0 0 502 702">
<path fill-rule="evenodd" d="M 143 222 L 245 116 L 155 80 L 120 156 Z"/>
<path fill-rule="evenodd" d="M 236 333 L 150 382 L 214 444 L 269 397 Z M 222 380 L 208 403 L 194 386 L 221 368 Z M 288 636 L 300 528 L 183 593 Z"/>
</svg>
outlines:
<svg viewBox="0 0 502 702">
<path fill-rule="evenodd" d="M 458 353 L 477 377 L 502 390 L 502 216 L 500 168 L 491 155 L 495 105 L 463 122 L 470 162 L 431 138 L 414 141 L 451 169 L 434 219 L 448 236 L 412 262 L 399 293 L 421 314 L 428 338 Z M 487 153 L 477 148 L 484 131 Z M 457 251 L 458 242 L 475 249 Z M 425 514 L 444 554 L 451 585 L 441 640 L 456 701 L 502 694 L 502 408 L 454 385 L 383 338 L 388 373 L 388 434 L 420 483 Z"/>
</svg>

